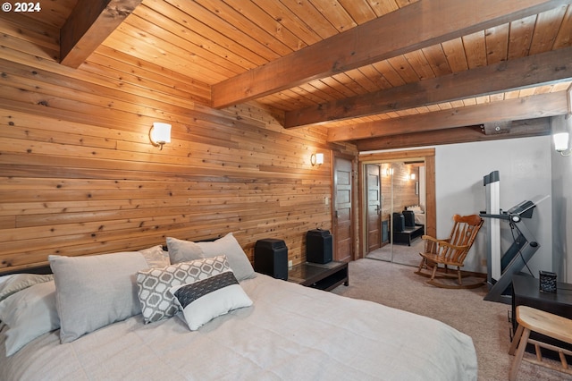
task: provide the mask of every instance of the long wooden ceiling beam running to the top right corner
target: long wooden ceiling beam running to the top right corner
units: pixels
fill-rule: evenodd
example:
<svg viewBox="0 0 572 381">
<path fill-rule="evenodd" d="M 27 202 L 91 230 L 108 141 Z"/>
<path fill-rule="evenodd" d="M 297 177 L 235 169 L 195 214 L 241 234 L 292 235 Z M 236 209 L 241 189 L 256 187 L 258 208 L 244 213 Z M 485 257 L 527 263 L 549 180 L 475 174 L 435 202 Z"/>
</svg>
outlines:
<svg viewBox="0 0 572 381">
<path fill-rule="evenodd" d="M 223 108 L 567 4 L 564 0 L 419 1 L 214 84 Z"/>
</svg>

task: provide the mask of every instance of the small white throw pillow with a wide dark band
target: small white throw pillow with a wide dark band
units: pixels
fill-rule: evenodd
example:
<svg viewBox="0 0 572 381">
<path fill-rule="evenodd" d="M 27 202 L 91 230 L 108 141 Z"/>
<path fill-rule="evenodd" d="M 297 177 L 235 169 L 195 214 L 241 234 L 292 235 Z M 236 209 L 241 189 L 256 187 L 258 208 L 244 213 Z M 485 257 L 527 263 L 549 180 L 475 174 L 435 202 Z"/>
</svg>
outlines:
<svg viewBox="0 0 572 381">
<path fill-rule="evenodd" d="M 203 261 L 208 264 L 214 258 L 193 261 Z M 205 279 L 198 279 L 189 284 L 173 286 L 170 289 L 175 301 L 182 309 L 187 325 L 191 331 L 196 331 L 212 319 L 252 305 L 252 301 L 236 279 L 229 267 L 218 274 Z"/>
</svg>

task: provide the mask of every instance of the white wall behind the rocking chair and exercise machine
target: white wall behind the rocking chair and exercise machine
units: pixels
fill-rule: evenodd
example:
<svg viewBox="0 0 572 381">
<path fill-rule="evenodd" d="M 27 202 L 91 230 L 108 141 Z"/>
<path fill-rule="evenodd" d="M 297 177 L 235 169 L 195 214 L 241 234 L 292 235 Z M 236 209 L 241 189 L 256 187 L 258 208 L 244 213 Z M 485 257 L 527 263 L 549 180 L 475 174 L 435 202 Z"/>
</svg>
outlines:
<svg viewBox="0 0 572 381">
<path fill-rule="evenodd" d="M 485 209 L 483 176 L 492 171 L 500 174 L 500 205 L 504 210 L 523 200 L 551 196 L 551 151 L 550 136 L 436 146 L 437 238 L 449 235 L 454 214 L 478 214 Z M 534 276 L 539 270 L 553 271 L 551 203 L 551 199 L 544 200 L 534 208 L 531 219 L 523 219 L 540 243 L 528 263 Z M 487 219 L 467 256 L 467 271 L 487 272 L 486 229 Z M 506 222 L 501 222 L 501 236 L 504 253 L 512 243 Z"/>
</svg>

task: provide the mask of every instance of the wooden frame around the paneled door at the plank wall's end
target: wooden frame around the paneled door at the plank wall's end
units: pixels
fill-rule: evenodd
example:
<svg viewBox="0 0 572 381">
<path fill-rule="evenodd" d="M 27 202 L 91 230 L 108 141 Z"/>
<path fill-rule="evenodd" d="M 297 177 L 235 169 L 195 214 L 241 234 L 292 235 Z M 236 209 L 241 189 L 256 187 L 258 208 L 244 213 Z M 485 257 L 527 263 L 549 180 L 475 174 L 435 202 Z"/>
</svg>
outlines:
<svg viewBox="0 0 572 381">
<path fill-rule="evenodd" d="M 332 151 L 332 157 L 331 157 L 331 178 L 332 178 L 332 202 L 330 204 L 330 212 L 331 212 L 331 218 L 332 218 L 332 234 L 336 233 L 335 232 L 335 226 L 337 226 L 337 224 L 335 223 L 336 221 L 336 216 L 335 216 L 335 208 L 336 208 L 336 175 L 335 175 L 335 159 L 336 158 L 342 158 L 345 160 L 348 160 L 351 162 L 351 225 L 350 225 L 350 229 L 349 229 L 349 234 L 351 235 L 351 253 L 349 254 L 349 260 L 353 261 L 357 259 L 357 253 L 358 251 L 358 247 L 357 247 L 357 241 L 356 241 L 356 227 L 357 227 L 357 208 L 356 206 L 359 205 L 358 204 L 358 198 L 357 198 L 357 193 L 358 193 L 358 187 L 357 187 L 357 179 L 356 179 L 356 166 L 357 166 L 357 160 L 356 157 L 353 155 L 348 155 L 348 154 L 343 154 L 341 152 L 338 151 Z M 332 252 L 334 253 L 334 257 L 335 257 L 335 253 L 337 252 L 337 241 L 335 239 L 335 237 L 332 239 Z"/>
</svg>

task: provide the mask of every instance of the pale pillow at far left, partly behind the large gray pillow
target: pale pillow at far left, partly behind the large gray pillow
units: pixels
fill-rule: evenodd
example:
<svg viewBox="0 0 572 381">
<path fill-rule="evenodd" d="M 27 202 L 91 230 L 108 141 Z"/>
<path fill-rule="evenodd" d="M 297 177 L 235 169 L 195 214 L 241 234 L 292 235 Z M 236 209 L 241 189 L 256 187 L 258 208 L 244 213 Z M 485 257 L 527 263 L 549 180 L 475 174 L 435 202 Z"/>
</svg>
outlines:
<svg viewBox="0 0 572 381">
<path fill-rule="evenodd" d="M 6 326 L 6 356 L 60 327 L 55 309 L 54 281 L 34 284 L 0 302 L 0 320 Z"/>
</svg>

